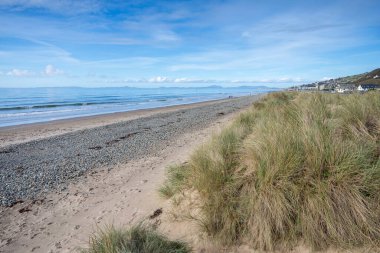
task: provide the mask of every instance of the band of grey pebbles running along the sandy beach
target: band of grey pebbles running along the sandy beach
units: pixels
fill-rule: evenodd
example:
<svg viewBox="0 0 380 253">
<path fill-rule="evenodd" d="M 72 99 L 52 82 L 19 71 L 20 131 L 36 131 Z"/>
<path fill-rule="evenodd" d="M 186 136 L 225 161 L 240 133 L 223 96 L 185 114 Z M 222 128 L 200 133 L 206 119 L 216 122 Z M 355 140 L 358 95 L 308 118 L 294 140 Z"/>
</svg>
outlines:
<svg viewBox="0 0 380 253">
<path fill-rule="evenodd" d="M 247 107 L 258 96 L 159 113 L 0 149 L 0 205 L 43 198 L 103 166 L 158 154 L 184 133 Z"/>
</svg>

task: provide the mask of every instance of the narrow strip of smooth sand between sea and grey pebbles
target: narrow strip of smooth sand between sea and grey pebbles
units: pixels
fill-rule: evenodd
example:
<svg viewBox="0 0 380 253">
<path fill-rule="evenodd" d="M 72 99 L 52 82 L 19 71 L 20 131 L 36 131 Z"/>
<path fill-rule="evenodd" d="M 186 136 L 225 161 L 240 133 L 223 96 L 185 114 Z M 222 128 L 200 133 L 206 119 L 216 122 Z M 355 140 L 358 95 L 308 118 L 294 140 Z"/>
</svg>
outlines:
<svg viewBox="0 0 380 253">
<path fill-rule="evenodd" d="M 9 145 L 25 143 L 33 140 L 43 139 L 68 132 L 100 127 L 123 121 L 134 120 L 140 117 L 148 117 L 156 113 L 165 113 L 175 110 L 191 109 L 194 107 L 207 106 L 225 101 L 237 100 L 245 97 L 261 97 L 267 93 L 208 100 L 203 102 L 170 105 L 148 109 L 138 109 L 124 112 L 113 112 L 99 115 L 80 116 L 67 119 L 58 119 L 44 122 L 27 123 L 14 126 L 0 127 L 0 148 Z"/>
</svg>

